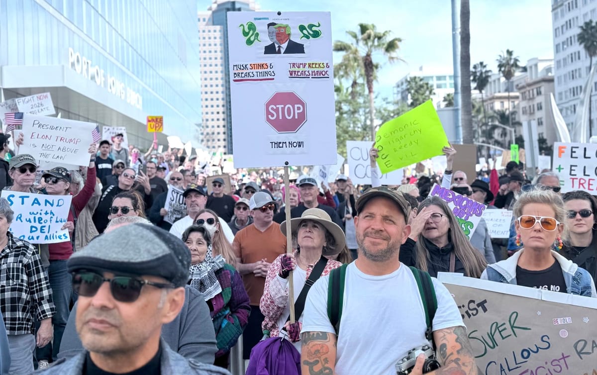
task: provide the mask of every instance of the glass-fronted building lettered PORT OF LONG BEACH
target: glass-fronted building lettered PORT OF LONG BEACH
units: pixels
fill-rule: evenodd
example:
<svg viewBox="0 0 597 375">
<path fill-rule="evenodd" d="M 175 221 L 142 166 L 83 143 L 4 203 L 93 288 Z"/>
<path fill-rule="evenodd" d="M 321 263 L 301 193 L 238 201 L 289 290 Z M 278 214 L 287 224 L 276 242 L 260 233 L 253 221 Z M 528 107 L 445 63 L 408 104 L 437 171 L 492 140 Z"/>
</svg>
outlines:
<svg viewBox="0 0 597 375">
<path fill-rule="evenodd" d="M 0 87 L 49 91 L 62 118 L 126 126 L 141 147 L 162 115 L 160 137 L 199 146 L 196 14 L 195 0 L 0 0 Z"/>
</svg>

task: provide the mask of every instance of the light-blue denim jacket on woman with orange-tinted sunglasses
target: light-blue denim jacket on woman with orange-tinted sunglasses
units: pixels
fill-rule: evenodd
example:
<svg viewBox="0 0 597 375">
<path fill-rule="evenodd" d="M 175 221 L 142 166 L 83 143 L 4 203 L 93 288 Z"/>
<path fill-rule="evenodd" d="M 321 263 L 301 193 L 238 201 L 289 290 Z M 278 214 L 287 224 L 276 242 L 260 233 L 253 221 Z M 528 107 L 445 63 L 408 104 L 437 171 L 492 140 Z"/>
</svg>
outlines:
<svg viewBox="0 0 597 375">
<path fill-rule="evenodd" d="M 506 260 L 488 265 L 485 271 L 483 271 L 481 278 L 516 285 L 516 265 L 518 265 L 518 259 L 523 251 L 524 248 Z M 593 278 L 589 272 L 578 267 L 576 263 L 553 250 L 552 256 L 559 262 L 562 272 L 564 272 L 566 293 L 585 297 L 597 297 L 595 282 L 593 282 Z"/>
</svg>

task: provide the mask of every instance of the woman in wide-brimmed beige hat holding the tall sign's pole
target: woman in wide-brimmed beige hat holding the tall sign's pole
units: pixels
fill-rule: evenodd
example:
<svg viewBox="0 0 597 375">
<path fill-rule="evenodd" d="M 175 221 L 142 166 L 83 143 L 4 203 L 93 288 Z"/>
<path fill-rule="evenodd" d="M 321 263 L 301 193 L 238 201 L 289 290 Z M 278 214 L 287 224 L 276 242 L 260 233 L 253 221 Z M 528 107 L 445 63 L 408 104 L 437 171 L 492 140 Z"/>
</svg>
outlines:
<svg viewBox="0 0 597 375">
<path fill-rule="evenodd" d="M 286 235 L 287 222 L 282 222 L 280 230 Z M 346 238 L 344 232 L 330 216 L 319 208 L 309 208 L 301 217 L 290 220 L 293 240 L 297 243 L 297 250 L 292 254 L 282 254 L 273 261 L 265 281 L 263 296 L 259 304 L 261 313 L 265 316 L 263 333 L 270 337 L 287 337 L 300 352 L 300 326 L 302 313 L 296 313 L 296 323 L 290 324 L 288 317 L 290 305 L 288 303 L 288 275 L 294 271 L 294 299 L 295 302 L 306 285 L 307 278 L 313 273 L 313 282 L 319 276 L 325 276 L 342 263 L 327 259 L 326 256 L 336 256 L 344 248 Z M 317 273 L 321 272 L 320 275 Z M 315 278 L 315 276 L 317 276 Z M 313 279 L 315 278 L 315 279 Z M 308 287 L 307 287 L 308 288 Z M 304 304 L 304 301 L 303 301 Z M 298 306 L 298 304 L 296 305 Z"/>
</svg>

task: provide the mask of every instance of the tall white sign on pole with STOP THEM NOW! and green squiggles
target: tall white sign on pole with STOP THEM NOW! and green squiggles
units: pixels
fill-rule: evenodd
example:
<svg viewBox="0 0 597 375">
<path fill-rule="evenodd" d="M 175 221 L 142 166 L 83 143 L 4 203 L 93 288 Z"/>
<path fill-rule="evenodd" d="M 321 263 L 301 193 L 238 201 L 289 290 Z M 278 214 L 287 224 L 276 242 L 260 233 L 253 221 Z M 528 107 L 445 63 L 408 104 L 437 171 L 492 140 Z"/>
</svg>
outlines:
<svg viewBox="0 0 597 375">
<path fill-rule="evenodd" d="M 330 22 L 329 12 L 228 14 L 236 168 L 336 164 Z"/>
</svg>

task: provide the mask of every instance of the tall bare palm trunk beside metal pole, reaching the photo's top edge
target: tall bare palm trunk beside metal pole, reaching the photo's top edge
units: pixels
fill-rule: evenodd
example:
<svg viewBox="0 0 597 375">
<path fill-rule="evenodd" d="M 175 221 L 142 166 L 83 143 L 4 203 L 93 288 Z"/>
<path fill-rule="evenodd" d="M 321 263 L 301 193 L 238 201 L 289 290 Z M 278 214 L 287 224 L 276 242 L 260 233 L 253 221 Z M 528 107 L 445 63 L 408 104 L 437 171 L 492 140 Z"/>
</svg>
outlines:
<svg viewBox="0 0 597 375">
<path fill-rule="evenodd" d="M 462 141 L 473 143 L 473 104 L 470 98 L 470 6 L 469 0 L 460 0 L 460 115 Z"/>
</svg>

